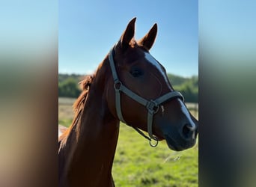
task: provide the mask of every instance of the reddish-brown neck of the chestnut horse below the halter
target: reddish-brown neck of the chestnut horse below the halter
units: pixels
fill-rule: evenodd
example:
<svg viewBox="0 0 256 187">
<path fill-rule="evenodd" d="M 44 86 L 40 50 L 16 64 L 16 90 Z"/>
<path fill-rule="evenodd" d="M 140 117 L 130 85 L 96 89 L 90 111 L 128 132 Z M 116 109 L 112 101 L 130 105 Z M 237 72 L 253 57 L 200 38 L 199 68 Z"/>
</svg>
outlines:
<svg viewBox="0 0 256 187">
<path fill-rule="evenodd" d="M 74 144 L 70 146 L 73 153 L 67 175 L 77 185 L 81 185 L 79 181 L 87 181 L 87 185 L 91 183 L 91 186 L 96 183 L 105 183 L 104 186 L 112 183 L 111 171 L 118 142 L 119 123 L 110 113 L 104 96 L 105 80 L 109 79 L 106 74 L 110 73 L 108 63 L 106 58 L 97 70 L 78 122 L 79 126 L 71 130 L 75 135 L 70 136 L 73 137 L 70 142 Z"/>
</svg>

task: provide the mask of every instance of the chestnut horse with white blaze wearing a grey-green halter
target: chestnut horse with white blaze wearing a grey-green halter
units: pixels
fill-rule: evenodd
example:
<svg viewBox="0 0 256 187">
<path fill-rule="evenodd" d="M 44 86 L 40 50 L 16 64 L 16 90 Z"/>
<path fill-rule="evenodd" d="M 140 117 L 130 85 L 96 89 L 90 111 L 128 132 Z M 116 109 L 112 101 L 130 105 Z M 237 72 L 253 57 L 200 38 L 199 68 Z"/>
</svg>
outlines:
<svg viewBox="0 0 256 187">
<path fill-rule="evenodd" d="M 82 93 L 73 105 L 73 122 L 66 131 L 61 129 L 58 138 L 58 186 L 115 186 L 112 164 L 120 121 L 147 138 L 152 147 L 164 139 L 176 151 L 195 145 L 198 120 L 149 52 L 157 25 L 135 40 L 135 19 L 94 75 L 80 82 Z"/>
</svg>

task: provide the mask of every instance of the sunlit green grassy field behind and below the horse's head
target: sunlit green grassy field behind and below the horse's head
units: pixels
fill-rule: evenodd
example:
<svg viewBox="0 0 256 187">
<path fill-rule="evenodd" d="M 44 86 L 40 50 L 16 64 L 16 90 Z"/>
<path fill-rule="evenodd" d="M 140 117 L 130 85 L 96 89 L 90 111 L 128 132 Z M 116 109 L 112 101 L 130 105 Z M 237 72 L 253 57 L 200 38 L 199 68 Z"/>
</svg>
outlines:
<svg viewBox="0 0 256 187">
<path fill-rule="evenodd" d="M 73 101 L 59 99 L 59 124 L 70 125 Z M 197 111 L 192 111 L 192 114 L 198 117 Z M 153 148 L 138 132 L 121 123 L 112 174 L 118 187 L 198 186 L 198 144 L 182 152 L 169 150 L 165 141 Z"/>
</svg>

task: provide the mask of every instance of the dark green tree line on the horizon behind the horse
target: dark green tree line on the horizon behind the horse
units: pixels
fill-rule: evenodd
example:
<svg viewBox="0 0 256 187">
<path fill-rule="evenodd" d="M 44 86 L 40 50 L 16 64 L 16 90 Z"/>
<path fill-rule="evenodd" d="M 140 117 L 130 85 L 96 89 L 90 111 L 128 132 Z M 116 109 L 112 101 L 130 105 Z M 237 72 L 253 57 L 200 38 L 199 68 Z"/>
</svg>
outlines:
<svg viewBox="0 0 256 187">
<path fill-rule="evenodd" d="M 58 96 L 78 97 L 81 93 L 79 82 L 84 76 L 77 74 L 58 74 Z M 180 91 L 186 102 L 198 102 L 198 76 L 185 78 L 168 73 L 168 79 L 176 91 Z"/>
</svg>

